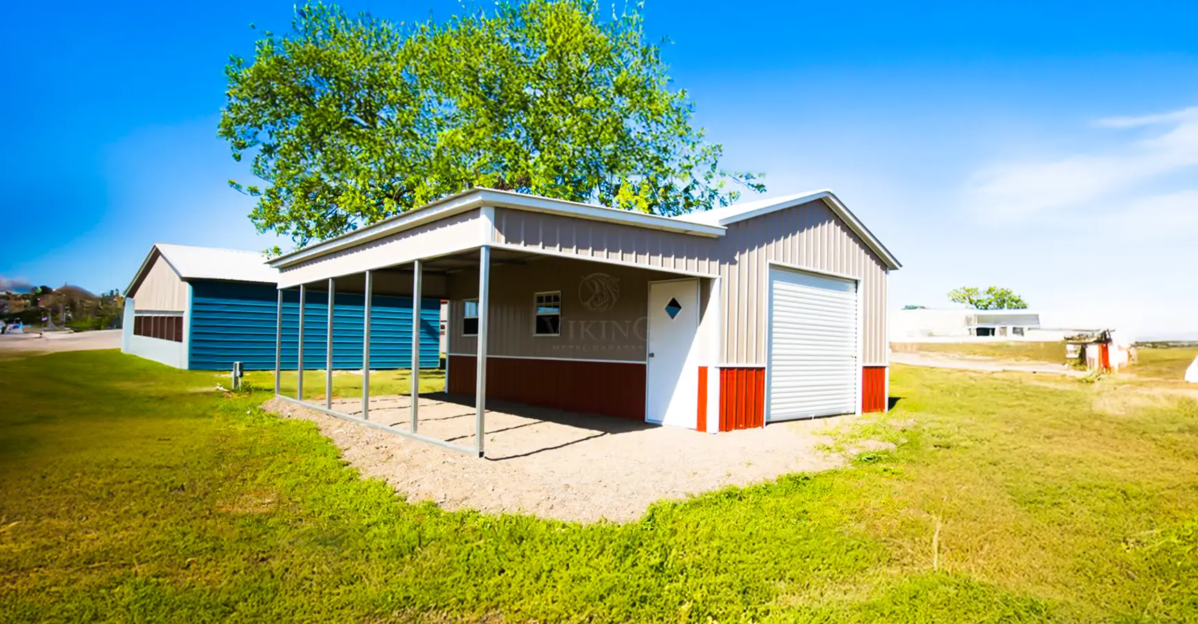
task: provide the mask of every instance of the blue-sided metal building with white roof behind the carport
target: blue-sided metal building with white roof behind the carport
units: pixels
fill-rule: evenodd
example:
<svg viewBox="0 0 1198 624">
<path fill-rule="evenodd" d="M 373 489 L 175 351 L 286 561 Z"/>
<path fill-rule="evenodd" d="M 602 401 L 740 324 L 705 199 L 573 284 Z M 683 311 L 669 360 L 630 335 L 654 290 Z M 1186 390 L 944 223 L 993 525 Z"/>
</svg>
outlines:
<svg viewBox="0 0 1198 624">
<path fill-rule="evenodd" d="M 229 370 L 241 362 L 246 370 L 271 370 L 276 362 L 278 271 L 254 252 L 157 243 L 129 284 L 125 302 L 121 350 L 181 369 Z M 383 290 L 373 301 L 371 365 L 407 368 L 412 353 L 412 298 L 404 285 Z M 395 296 L 400 295 L 400 296 Z M 326 365 L 327 295 L 307 298 L 304 365 Z M 420 308 L 420 358 L 438 364 L 441 317 L 438 299 Z M 362 295 L 335 298 L 333 368 L 362 368 Z M 283 365 L 296 368 L 300 317 L 298 293 L 284 303 Z M 319 320 L 319 321 L 317 321 Z"/>
</svg>

